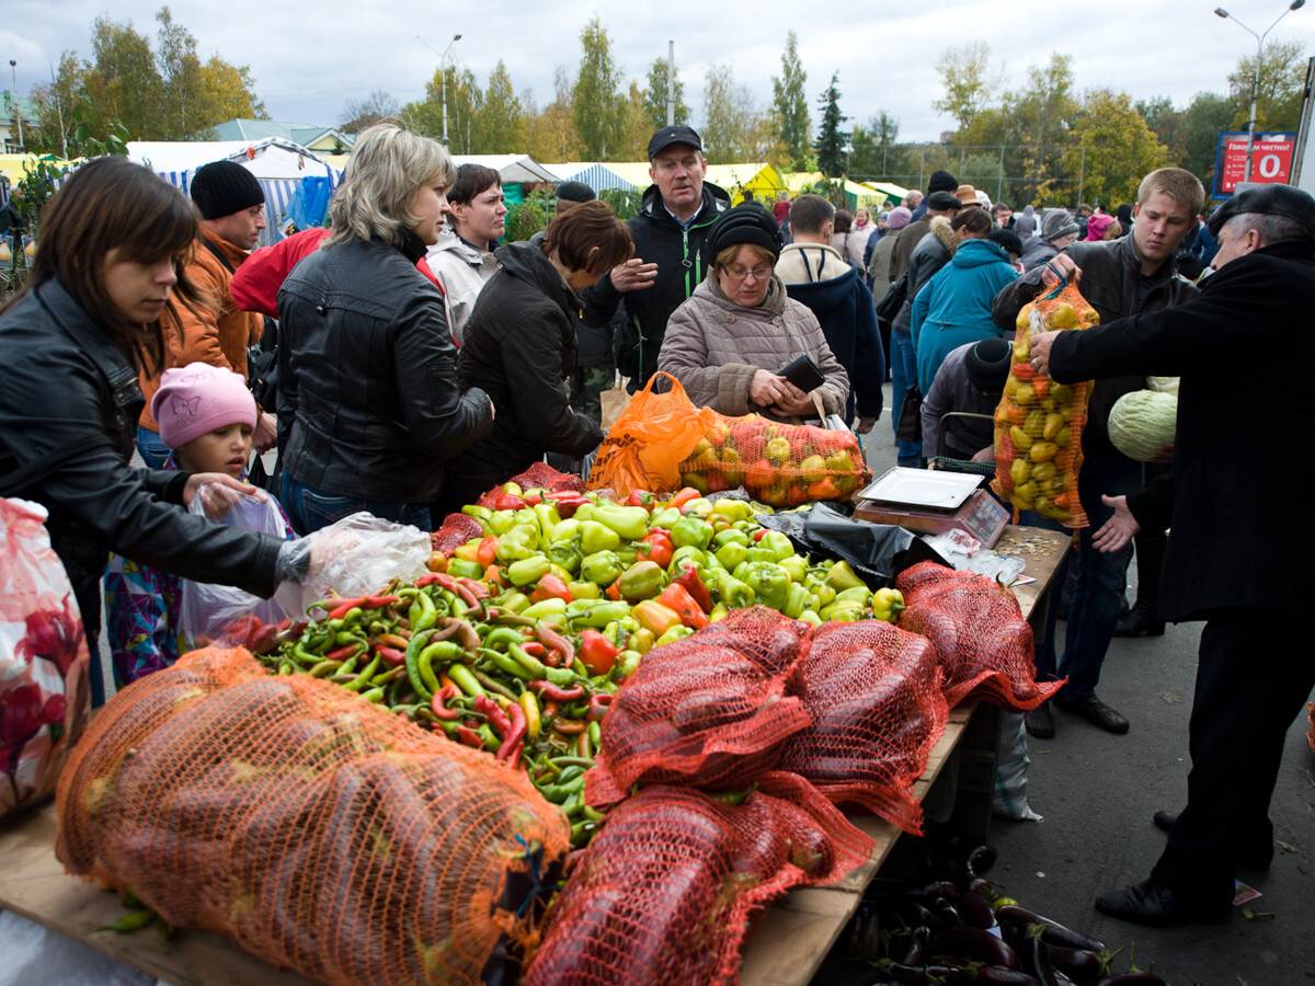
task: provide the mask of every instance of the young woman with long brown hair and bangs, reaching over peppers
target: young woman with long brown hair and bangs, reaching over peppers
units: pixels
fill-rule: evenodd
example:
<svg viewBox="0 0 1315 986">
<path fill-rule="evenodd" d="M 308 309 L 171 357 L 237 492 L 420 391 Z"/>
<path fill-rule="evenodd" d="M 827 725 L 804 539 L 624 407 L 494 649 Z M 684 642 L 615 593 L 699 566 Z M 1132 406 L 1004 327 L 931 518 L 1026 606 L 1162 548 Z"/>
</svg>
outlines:
<svg viewBox="0 0 1315 986">
<path fill-rule="evenodd" d="M 254 486 L 128 464 L 138 372 L 158 372 L 163 354 L 160 312 L 171 294 L 204 304 L 184 273 L 196 237 L 176 188 L 124 158 L 93 160 L 50 200 L 32 281 L 0 314 L 0 494 L 49 510 L 92 655 L 110 551 L 264 597 L 309 564 L 302 547 L 181 509 L 203 482 L 230 502 L 263 496 Z M 99 659 L 92 698 L 103 701 Z"/>
</svg>

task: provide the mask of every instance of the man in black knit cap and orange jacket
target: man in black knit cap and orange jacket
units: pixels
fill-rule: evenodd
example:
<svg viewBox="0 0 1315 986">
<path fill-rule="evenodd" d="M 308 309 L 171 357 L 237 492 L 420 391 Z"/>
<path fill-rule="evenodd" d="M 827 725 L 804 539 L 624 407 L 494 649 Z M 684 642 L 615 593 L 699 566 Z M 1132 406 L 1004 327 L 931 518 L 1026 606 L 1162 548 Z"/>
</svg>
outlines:
<svg viewBox="0 0 1315 986">
<path fill-rule="evenodd" d="M 176 306 L 176 316 L 166 309 L 160 317 L 164 333 L 164 365 L 185 367 L 208 363 L 231 369 L 246 380 L 247 346 L 255 346 L 264 331 L 264 318 L 243 312 L 233 300 L 233 273 L 246 260 L 260 238 L 264 221 L 264 192 L 255 175 L 231 160 L 217 160 L 199 168 L 192 176 L 192 202 L 201 217 L 201 235 L 187 266 L 188 279 L 203 293 L 214 298 L 212 308 L 192 312 Z M 163 465 L 168 448 L 160 442 L 159 426 L 150 415 L 151 397 L 159 389 L 159 377 L 142 377 L 147 410 L 137 429 L 137 447 L 149 464 Z M 258 452 L 274 447 L 274 415 L 260 409 L 252 444 Z M 156 468 L 158 468 L 156 465 Z"/>
</svg>

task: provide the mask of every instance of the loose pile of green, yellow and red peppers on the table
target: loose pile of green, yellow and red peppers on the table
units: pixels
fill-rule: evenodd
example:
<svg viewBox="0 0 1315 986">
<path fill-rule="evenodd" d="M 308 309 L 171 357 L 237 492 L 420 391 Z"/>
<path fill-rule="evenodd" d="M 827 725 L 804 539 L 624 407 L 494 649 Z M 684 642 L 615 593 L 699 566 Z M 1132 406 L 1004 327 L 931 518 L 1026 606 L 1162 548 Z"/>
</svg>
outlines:
<svg viewBox="0 0 1315 986">
<path fill-rule="evenodd" d="M 435 552 L 430 573 L 247 639 L 271 673 L 338 682 L 526 770 L 576 844 L 601 820 L 583 799 L 600 720 L 650 649 L 753 605 L 813 624 L 903 609 L 848 563 L 797 553 L 746 501 L 508 484 L 494 506 L 464 509 L 484 534 Z"/>
</svg>

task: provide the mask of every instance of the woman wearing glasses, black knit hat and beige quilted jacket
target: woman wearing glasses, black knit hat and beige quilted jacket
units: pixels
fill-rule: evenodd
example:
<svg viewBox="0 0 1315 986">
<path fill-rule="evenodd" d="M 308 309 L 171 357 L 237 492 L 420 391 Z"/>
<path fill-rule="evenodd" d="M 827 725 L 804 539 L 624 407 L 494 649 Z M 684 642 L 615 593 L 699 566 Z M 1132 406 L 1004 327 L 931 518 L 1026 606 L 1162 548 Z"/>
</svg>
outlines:
<svg viewBox="0 0 1315 986">
<path fill-rule="evenodd" d="M 707 250 L 707 279 L 667 322 L 658 369 L 680 380 L 694 404 L 722 414 L 807 419 L 818 417 L 813 396 L 780 373 L 807 355 L 826 379 L 814 392 L 823 411 L 842 411 L 849 394 L 844 367 L 813 312 L 786 297 L 772 272 L 781 254 L 772 216 L 750 204 L 722 213 Z"/>
</svg>

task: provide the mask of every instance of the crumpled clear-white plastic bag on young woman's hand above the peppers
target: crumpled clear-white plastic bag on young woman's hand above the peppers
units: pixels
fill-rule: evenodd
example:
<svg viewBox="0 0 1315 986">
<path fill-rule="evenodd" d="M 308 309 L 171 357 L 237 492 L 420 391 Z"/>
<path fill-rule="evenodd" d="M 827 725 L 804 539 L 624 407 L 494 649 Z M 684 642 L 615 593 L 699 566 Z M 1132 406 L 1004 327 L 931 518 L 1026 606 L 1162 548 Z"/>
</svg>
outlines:
<svg viewBox="0 0 1315 986">
<path fill-rule="evenodd" d="M 293 619 L 330 594 L 364 596 L 394 578 L 422 576 L 431 553 L 425 531 L 364 510 L 312 531 L 302 543 L 310 550 L 310 577 L 302 585 L 284 582 L 274 597 Z"/>
</svg>

